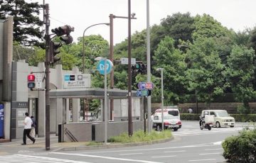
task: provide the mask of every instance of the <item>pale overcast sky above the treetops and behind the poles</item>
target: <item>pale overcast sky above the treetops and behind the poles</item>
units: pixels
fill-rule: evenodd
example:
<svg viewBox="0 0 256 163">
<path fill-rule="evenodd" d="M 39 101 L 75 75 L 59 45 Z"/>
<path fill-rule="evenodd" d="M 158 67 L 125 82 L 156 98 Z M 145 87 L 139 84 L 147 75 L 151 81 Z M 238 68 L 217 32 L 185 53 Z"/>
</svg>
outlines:
<svg viewBox="0 0 256 163">
<path fill-rule="evenodd" d="M 43 4 L 43 0 L 37 0 Z M 128 0 L 45 0 L 50 6 L 50 29 L 66 24 L 73 26 L 73 38 L 77 41 L 88 26 L 109 23 L 110 13 L 128 16 Z M 255 0 L 149 0 L 150 26 L 161 22 L 173 13 L 190 12 L 191 16 L 207 13 L 227 28 L 242 31 L 256 25 Z M 131 0 L 131 11 L 136 13 L 132 20 L 132 33 L 146 29 L 146 0 Z M 110 40 L 110 28 L 93 26 L 85 35 L 102 35 Z M 128 20 L 114 18 L 114 44 L 127 38 Z"/>
</svg>

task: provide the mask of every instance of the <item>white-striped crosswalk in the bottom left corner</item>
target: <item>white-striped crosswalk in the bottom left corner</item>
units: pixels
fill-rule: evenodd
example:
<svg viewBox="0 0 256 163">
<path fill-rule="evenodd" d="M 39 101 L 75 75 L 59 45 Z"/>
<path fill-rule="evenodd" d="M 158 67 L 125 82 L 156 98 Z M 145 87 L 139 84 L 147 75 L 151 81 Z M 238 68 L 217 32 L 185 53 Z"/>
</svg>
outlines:
<svg viewBox="0 0 256 163">
<path fill-rule="evenodd" d="M 41 156 L 33 156 L 27 154 L 14 154 L 14 155 L 6 155 L 0 157 L 1 163 L 17 163 L 17 162 L 24 162 L 24 163 L 39 163 L 39 162 L 52 162 L 52 163 L 89 163 L 89 162 L 78 162 L 69 159 L 56 159 L 50 157 L 41 157 Z"/>
</svg>

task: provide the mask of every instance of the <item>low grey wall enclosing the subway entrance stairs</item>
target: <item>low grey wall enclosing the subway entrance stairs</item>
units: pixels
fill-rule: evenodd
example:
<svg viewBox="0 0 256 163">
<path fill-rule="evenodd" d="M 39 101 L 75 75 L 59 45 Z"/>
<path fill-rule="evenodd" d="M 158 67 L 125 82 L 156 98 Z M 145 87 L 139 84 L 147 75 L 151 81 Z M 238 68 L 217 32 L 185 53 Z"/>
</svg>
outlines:
<svg viewBox="0 0 256 163">
<path fill-rule="evenodd" d="M 78 140 L 78 142 L 92 141 L 92 125 L 95 125 L 95 141 L 103 142 L 105 140 L 105 122 L 92 123 L 67 123 L 63 125 L 63 142 L 71 142 L 65 129 Z M 134 120 L 132 122 L 133 131 L 144 130 L 144 121 Z M 117 136 L 120 133 L 128 132 L 128 122 L 110 122 L 107 124 L 107 138 Z"/>
</svg>

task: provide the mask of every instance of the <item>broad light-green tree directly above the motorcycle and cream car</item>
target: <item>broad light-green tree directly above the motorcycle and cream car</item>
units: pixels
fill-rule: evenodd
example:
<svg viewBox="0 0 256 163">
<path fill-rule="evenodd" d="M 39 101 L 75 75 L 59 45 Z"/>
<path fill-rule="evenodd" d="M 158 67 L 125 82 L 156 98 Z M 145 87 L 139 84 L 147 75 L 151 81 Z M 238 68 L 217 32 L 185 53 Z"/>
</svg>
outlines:
<svg viewBox="0 0 256 163">
<path fill-rule="evenodd" d="M 223 94 L 223 64 L 213 38 L 198 38 L 187 53 L 191 67 L 186 71 L 188 91 L 208 105 L 214 96 Z"/>
</svg>

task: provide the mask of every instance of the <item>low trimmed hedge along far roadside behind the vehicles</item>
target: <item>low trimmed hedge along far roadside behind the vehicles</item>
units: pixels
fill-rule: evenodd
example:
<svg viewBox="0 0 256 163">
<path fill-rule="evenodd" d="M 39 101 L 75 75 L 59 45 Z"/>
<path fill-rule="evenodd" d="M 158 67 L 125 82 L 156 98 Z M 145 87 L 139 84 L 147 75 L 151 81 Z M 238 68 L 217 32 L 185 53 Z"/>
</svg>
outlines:
<svg viewBox="0 0 256 163">
<path fill-rule="evenodd" d="M 181 113 L 181 120 L 199 120 L 201 114 Z M 236 122 L 256 122 L 256 114 L 230 114 Z"/>
</svg>

